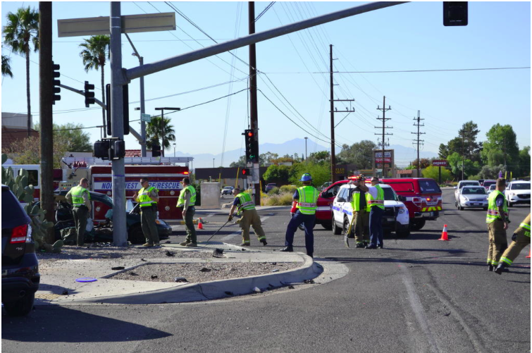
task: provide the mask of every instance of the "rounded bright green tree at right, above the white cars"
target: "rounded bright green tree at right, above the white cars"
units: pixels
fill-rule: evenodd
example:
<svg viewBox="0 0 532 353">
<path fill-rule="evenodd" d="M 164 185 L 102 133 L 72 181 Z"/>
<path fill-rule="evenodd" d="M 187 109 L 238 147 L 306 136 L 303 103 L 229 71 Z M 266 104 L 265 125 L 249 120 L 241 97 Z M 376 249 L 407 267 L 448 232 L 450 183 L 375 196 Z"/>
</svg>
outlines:
<svg viewBox="0 0 532 353">
<path fill-rule="evenodd" d="M 509 171 L 519 171 L 519 147 L 512 125 L 495 124 L 485 134 L 481 158 L 488 166 L 503 164 Z"/>
</svg>

